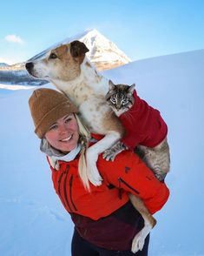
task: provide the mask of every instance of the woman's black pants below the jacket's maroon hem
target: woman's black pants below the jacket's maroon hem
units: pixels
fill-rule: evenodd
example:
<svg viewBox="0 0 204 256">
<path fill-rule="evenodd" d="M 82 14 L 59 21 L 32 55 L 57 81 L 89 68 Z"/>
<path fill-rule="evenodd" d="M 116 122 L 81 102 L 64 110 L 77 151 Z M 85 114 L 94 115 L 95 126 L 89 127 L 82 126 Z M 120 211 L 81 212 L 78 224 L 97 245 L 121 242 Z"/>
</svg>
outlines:
<svg viewBox="0 0 204 256">
<path fill-rule="evenodd" d="M 148 256 L 148 241 L 149 235 L 145 240 L 142 251 L 132 253 L 131 251 L 111 251 L 102 249 L 101 247 L 94 246 L 88 241 L 82 239 L 79 233 L 75 230 L 72 243 L 71 255 L 72 256 Z"/>
</svg>

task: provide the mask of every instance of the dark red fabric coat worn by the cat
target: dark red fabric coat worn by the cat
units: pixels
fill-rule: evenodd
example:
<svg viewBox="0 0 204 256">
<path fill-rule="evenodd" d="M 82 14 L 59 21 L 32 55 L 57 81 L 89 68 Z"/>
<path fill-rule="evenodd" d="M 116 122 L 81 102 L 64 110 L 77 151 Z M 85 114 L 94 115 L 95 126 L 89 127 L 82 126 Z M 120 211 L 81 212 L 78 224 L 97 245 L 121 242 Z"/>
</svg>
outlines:
<svg viewBox="0 0 204 256">
<path fill-rule="evenodd" d="M 138 144 L 155 147 L 167 136 L 168 126 L 161 118 L 160 111 L 149 106 L 134 91 L 135 104 L 128 113 L 119 118 L 125 127 L 126 134 L 122 142 L 130 149 Z"/>
</svg>

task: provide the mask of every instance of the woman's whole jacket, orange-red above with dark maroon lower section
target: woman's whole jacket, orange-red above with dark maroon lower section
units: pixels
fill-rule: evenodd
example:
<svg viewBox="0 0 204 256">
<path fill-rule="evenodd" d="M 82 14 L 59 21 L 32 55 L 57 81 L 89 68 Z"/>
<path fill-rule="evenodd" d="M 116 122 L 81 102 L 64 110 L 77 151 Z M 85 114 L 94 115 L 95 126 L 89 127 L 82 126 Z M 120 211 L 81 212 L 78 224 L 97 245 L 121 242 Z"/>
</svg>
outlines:
<svg viewBox="0 0 204 256">
<path fill-rule="evenodd" d="M 157 212 L 168 200 L 168 187 L 155 179 L 133 152 L 118 154 L 114 162 L 99 156 L 101 186 L 90 184 L 87 192 L 78 175 L 78 158 L 59 162 L 60 170 L 51 166 L 56 193 L 71 215 L 83 239 L 109 250 L 130 250 L 132 239 L 143 226 L 143 219 L 129 203 L 128 192 L 143 199 L 148 210 Z"/>
</svg>

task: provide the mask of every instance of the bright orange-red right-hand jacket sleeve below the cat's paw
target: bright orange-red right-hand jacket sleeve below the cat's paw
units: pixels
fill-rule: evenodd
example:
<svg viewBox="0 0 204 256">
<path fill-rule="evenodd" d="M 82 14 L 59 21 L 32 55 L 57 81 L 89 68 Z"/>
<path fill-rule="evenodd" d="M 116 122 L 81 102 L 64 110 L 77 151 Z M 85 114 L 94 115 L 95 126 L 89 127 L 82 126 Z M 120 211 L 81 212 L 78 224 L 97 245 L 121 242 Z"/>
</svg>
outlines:
<svg viewBox="0 0 204 256">
<path fill-rule="evenodd" d="M 97 167 L 104 181 L 140 197 L 152 214 L 161 210 L 168 200 L 167 185 L 156 179 L 134 152 L 122 152 L 114 162 L 106 161 L 100 155 Z"/>
</svg>

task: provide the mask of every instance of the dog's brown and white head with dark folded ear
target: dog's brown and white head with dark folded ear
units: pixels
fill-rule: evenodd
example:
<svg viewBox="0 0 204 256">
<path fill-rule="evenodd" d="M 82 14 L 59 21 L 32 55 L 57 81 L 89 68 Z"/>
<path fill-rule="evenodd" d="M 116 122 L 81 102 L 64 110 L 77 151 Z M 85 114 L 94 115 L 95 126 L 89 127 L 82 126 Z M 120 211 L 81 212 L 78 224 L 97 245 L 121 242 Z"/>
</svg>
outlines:
<svg viewBox="0 0 204 256">
<path fill-rule="evenodd" d="M 32 77 L 48 81 L 71 81 L 80 75 L 80 65 L 89 49 L 80 41 L 63 44 L 49 53 L 43 59 L 25 64 Z"/>
</svg>

